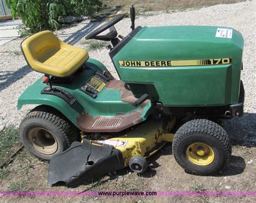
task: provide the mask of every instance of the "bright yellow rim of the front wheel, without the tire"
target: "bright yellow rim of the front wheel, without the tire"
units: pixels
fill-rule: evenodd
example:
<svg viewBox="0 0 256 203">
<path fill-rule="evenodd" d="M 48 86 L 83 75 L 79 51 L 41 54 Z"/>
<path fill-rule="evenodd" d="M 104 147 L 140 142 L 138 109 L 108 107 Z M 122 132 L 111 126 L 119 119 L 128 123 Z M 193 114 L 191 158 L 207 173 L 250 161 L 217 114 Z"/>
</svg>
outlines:
<svg viewBox="0 0 256 203">
<path fill-rule="evenodd" d="M 214 151 L 212 147 L 204 143 L 193 143 L 187 147 L 187 159 L 193 164 L 206 166 L 214 160 Z"/>
</svg>

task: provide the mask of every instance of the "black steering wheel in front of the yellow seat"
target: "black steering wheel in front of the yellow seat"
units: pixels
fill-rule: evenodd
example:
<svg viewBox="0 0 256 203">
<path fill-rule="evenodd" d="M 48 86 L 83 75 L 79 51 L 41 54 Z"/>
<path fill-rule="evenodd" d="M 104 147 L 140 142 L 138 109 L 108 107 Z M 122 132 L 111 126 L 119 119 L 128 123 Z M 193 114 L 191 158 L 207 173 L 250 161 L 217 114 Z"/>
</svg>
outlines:
<svg viewBox="0 0 256 203">
<path fill-rule="evenodd" d="M 107 22 L 106 24 L 100 26 L 98 29 L 96 29 L 95 31 L 92 31 L 91 33 L 89 33 L 89 35 L 87 35 L 85 37 L 85 39 L 99 39 L 99 40 L 104 40 L 104 41 L 110 41 L 114 38 L 116 38 L 117 36 L 117 31 L 114 28 L 114 24 L 117 24 L 119 21 L 121 21 L 124 17 L 126 16 L 126 14 L 122 14 L 114 19 L 112 19 L 111 21 Z M 112 27 L 112 28 L 111 28 Z M 106 35 L 102 35 L 102 36 L 98 36 L 99 33 L 104 32 L 105 30 L 110 28 L 110 32 L 107 33 Z"/>
</svg>

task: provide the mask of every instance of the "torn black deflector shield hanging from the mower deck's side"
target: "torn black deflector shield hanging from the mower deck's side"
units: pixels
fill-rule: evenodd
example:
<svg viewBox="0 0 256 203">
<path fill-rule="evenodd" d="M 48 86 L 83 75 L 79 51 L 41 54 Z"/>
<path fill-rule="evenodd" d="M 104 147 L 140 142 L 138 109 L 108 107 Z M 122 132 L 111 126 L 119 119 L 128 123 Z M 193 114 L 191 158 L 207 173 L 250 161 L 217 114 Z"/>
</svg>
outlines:
<svg viewBox="0 0 256 203">
<path fill-rule="evenodd" d="M 75 187 L 124 167 L 122 153 L 112 145 L 75 141 L 68 150 L 53 156 L 48 170 L 48 184 Z"/>
</svg>

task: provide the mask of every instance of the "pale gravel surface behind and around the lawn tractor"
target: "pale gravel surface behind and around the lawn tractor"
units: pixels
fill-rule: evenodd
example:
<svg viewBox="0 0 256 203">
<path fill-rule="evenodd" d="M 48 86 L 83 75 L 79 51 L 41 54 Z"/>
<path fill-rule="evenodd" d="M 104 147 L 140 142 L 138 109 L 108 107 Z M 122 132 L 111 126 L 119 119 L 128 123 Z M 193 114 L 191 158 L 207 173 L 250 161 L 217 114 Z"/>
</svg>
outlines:
<svg viewBox="0 0 256 203">
<path fill-rule="evenodd" d="M 147 12 L 136 19 L 136 25 L 141 26 L 214 25 L 232 27 L 242 33 L 245 39 L 244 70 L 241 75 L 246 93 L 245 114 L 240 118 L 224 121 L 223 126 L 233 143 L 246 145 L 255 145 L 256 141 L 255 8 L 256 1 L 247 1 L 183 12 Z M 99 24 L 101 23 L 83 21 L 57 31 L 57 35 L 69 44 L 86 48 L 82 43 L 84 36 Z M 116 25 L 116 29 L 119 34 L 127 35 L 130 32 L 130 19 L 125 18 Z M 31 106 L 25 106 L 22 111 L 17 111 L 17 99 L 26 87 L 41 76 L 26 66 L 19 48 L 22 40 L 18 38 L 0 48 L 0 130 L 4 126 L 19 125 Z M 100 60 L 117 77 L 106 49 L 90 51 L 90 57 Z"/>
</svg>

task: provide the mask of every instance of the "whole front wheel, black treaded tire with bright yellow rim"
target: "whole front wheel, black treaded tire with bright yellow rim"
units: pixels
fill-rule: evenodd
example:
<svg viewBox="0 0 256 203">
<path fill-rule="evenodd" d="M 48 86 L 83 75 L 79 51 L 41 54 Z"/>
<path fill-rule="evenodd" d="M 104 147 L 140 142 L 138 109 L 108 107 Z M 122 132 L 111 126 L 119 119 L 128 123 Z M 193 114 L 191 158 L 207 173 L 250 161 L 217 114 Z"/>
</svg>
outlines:
<svg viewBox="0 0 256 203">
<path fill-rule="evenodd" d="M 210 175 L 221 171 L 230 160 L 231 144 L 226 131 L 206 119 L 191 120 L 176 132 L 173 155 L 187 173 Z"/>
</svg>

